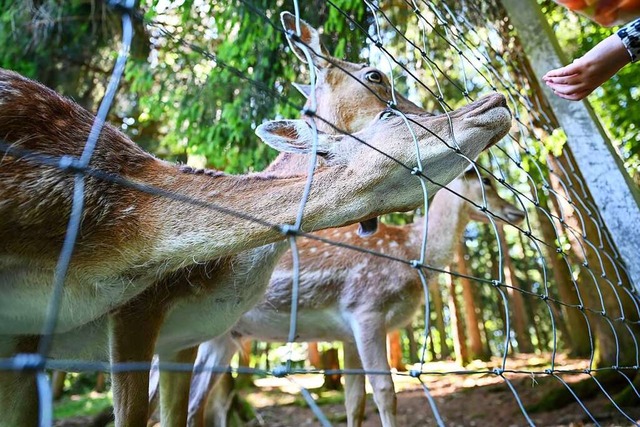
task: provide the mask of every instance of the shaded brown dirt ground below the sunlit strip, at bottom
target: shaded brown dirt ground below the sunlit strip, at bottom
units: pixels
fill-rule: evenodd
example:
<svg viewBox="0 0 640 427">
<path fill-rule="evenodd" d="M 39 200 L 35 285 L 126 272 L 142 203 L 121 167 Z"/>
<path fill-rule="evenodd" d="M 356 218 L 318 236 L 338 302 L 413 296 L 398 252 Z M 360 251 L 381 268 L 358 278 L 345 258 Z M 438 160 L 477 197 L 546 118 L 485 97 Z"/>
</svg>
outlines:
<svg viewBox="0 0 640 427">
<path fill-rule="evenodd" d="M 439 381 L 445 383 L 445 381 Z M 541 394 L 542 386 L 527 387 L 530 379 L 513 380 L 520 398 L 525 405 L 535 401 Z M 429 385 L 433 385 L 430 383 Z M 444 384 L 443 384 L 444 385 Z M 447 387 L 447 386 L 445 386 Z M 447 426 L 526 426 L 513 394 L 504 384 L 497 386 L 470 386 L 457 389 L 449 394 L 434 397 L 436 405 Z M 628 426 L 632 423 L 608 404 L 604 395 L 583 402 L 596 420 L 603 426 Z M 336 426 L 346 426 L 345 410 L 342 404 L 321 406 L 323 413 Z M 640 408 L 625 408 L 625 412 L 640 419 Z M 260 421 L 250 425 L 271 427 L 319 426 L 309 408 L 298 405 L 274 405 L 257 409 Z M 537 426 L 586 426 L 593 425 L 579 405 L 572 404 L 551 412 L 529 413 Z M 364 427 L 380 426 L 371 396 L 367 400 Z M 436 422 L 421 388 L 406 389 L 398 393 L 398 425 L 405 427 L 435 426 Z"/>
</svg>

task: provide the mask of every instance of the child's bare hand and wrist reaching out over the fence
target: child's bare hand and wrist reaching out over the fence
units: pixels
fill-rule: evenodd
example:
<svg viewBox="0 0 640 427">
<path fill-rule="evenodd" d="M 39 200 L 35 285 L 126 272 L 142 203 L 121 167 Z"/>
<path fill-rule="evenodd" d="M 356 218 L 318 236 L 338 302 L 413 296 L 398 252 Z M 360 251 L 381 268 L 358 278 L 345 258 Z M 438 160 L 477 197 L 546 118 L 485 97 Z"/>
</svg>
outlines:
<svg viewBox="0 0 640 427">
<path fill-rule="evenodd" d="M 580 101 L 631 62 L 620 38 L 613 34 L 566 67 L 551 70 L 542 79 L 561 98 Z"/>
</svg>

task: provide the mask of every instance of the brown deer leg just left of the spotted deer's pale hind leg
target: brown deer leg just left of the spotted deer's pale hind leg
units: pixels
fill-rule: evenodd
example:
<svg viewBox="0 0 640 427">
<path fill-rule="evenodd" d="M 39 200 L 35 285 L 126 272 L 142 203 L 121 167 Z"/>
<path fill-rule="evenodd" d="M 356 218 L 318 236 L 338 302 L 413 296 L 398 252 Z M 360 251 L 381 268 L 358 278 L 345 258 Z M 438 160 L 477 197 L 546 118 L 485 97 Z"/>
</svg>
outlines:
<svg viewBox="0 0 640 427">
<path fill-rule="evenodd" d="M 196 360 L 198 346 L 165 357 L 160 362 L 188 363 Z M 160 420 L 163 427 L 181 427 L 187 423 L 191 368 L 188 372 L 160 370 Z"/>
</svg>

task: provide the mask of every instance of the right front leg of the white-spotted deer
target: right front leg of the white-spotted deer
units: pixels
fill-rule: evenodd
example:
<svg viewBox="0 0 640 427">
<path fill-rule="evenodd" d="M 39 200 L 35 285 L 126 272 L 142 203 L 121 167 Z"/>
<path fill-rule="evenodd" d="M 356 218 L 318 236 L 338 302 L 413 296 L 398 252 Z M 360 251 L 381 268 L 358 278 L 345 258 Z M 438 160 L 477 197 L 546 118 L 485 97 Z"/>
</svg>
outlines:
<svg viewBox="0 0 640 427">
<path fill-rule="evenodd" d="M 363 312 L 353 317 L 352 329 L 365 371 L 389 371 L 384 313 Z M 382 425 L 395 427 L 396 393 L 391 375 L 369 375 L 368 377 Z"/>
</svg>

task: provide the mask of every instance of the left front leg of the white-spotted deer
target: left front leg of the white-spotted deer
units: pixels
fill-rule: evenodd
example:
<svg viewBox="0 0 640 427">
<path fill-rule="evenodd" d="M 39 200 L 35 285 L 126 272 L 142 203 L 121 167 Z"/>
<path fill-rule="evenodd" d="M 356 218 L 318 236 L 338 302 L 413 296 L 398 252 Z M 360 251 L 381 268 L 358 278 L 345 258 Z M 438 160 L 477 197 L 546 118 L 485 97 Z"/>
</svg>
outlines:
<svg viewBox="0 0 640 427">
<path fill-rule="evenodd" d="M 342 348 L 344 350 L 344 368 L 362 369 L 362 363 L 360 362 L 356 345 L 345 342 Z M 367 394 L 364 388 L 364 375 L 345 374 L 344 394 L 344 404 L 347 407 L 347 425 L 349 427 L 360 427 L 364 420 L 364 408 L 367 401 Z"/>
</svg>

